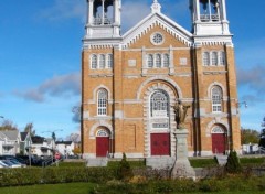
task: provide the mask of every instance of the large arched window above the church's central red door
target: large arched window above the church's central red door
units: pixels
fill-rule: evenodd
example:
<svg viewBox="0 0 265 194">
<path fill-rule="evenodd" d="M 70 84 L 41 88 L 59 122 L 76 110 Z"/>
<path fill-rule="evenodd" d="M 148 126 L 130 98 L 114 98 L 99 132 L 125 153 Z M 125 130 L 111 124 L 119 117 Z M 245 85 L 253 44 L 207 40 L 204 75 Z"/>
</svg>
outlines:
<svg viewBox="0 0 265 194">
<path fill-rule="evenodd" d="M 169 116 L 169 97 L 163 90 L 157 90 L 150 98 L 151 117 L 168 117 Z"/>
</svg>

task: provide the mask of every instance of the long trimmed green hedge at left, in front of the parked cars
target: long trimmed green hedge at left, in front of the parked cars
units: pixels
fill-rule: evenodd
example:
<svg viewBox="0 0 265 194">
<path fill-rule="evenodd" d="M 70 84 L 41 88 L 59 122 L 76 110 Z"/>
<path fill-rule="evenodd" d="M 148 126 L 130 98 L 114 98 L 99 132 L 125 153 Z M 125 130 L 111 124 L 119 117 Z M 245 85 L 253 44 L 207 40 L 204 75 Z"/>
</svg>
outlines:
<svg viewBox="0 0 265 194">
<path fill-rule="evenodd" d="M 114 168 L 23 168 L 0 169 L 0 186 L 56 184 L 70 182 L 104 183 L 116 179 Z"/>
</svg>

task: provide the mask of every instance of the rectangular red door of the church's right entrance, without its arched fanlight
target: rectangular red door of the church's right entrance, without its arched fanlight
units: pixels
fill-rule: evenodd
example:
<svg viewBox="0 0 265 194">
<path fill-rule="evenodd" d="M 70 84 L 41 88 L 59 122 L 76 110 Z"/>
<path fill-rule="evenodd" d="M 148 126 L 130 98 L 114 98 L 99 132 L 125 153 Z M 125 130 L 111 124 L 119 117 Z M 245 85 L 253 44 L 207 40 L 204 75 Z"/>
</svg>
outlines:
<svg viewBox="0 0 265 194">
<path fill-rule="evenodd" d="M 224 133 L 212 134 L 212 152 L 213 153 L 225 153 L 225 137 Z"/>
</svg>

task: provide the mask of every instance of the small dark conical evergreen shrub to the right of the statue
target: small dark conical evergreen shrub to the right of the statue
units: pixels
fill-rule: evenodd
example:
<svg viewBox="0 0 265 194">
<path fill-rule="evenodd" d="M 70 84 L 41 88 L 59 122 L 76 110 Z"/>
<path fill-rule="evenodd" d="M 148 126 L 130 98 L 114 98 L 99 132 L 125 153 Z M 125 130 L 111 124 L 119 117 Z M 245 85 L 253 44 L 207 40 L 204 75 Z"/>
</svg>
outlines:
<svg viewBox="0 0 265 194">
<path fill-rule="evenodd" d="M 227 173 L 240 173 L 242 172 L 242 166 L 240 164 L 240 159 L 236 151 L 230 151 L 227 163 L 225 164 L 225 170 Z"/>
</svg>

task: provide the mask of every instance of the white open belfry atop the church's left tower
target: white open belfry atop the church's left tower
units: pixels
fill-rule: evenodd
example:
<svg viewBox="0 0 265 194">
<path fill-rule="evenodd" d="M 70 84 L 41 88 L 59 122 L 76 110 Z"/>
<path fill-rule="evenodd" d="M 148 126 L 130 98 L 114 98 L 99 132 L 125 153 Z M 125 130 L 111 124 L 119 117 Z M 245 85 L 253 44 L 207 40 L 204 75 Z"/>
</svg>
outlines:
<svg viewBox="0 0 265 194">
<path fill-rule="evenodd" d="M 120 37 L 121 0 L 87 0 L 85 39 Z"/>
</svg>

